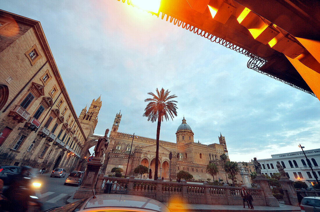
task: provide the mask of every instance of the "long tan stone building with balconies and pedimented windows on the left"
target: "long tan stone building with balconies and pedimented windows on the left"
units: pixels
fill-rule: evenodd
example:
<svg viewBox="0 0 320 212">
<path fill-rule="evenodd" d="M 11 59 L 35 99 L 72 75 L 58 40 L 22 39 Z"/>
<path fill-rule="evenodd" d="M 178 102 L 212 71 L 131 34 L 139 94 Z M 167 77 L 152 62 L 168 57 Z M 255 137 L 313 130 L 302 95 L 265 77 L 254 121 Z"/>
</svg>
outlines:
<svg viewBox="0 0 320 212">
<path fill-rule="evenodd" d="M 82 126 L 40 22 L 0 10 L 1 164 L 72 171 Z"/>
</svg>

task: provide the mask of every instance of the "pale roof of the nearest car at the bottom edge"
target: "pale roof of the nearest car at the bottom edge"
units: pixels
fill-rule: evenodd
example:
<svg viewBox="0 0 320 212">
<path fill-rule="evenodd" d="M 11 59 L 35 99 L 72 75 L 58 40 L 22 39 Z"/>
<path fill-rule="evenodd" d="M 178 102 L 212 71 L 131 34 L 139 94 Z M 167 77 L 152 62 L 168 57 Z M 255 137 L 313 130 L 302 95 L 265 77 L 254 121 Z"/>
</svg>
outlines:
<svg viewBox="0 0 320 212">
<path fill-rule="evenodd" d="M 91 198 L 83 209 L 101 207 L 143 208 L 161 212 L 169 211 L 169 209 L 159 201 L 148 197 L 127 194 L 98 194 L 96 198 Z"/>
</svg>

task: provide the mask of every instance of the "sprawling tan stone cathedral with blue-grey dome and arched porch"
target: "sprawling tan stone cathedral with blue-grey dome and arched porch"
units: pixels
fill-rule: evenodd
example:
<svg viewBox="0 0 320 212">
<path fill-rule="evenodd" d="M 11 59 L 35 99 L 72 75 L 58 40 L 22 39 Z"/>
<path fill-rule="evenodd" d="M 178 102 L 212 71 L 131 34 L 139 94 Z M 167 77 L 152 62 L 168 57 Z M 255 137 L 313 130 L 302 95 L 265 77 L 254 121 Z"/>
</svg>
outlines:
<svg viewBox="0 0 320 212">
<path fill-rule="evenodd" d="M 128 166 L 128 173 L 132 174 L 133 170 L 139 164 L 149 168 L 149 174 L 146 178 L 153 179 L 155 172 L 156 157 L 156 139 L 143 136 L 134 136 L 126 133 L 118 132 L 121 112 L 116 114 L 113 126 L 110 131 L 109 147 L 106 153 L 105 174 L 111 173 L 113 167 L 121 167 L 124 171 L 127 168 L 129 152 L 131 157 Z M 159 141 L 159 169 L 158 176 L 169 179 L 169 153 L 172 152 L 171 173 L 172 179 L 176 178 L 176 174 L 180 170 L 184 170 L 193 175 L 194 179 L 207 179 L 212 176 L 207 173 L 206 166 L 209 163 L 218 165 L 220 173 L 215 179 L 226 180 L 225 171 L 222 169 L 222 161 L 220 155 L 225 153 L 228 155 L 225 137 L 220 134 L 219 144 L 212 143 L 209 145 L 194 143 L 194 133 L 191 127 L 183 118 L 181 125 L 176 132 L 176 142 Z M 131 147 L 133 138 L 133 144 Z M 238 176 L 241 179 L 240 175 Z M 229 179 L 229 181 L 231 181 Z"/>
</svg>

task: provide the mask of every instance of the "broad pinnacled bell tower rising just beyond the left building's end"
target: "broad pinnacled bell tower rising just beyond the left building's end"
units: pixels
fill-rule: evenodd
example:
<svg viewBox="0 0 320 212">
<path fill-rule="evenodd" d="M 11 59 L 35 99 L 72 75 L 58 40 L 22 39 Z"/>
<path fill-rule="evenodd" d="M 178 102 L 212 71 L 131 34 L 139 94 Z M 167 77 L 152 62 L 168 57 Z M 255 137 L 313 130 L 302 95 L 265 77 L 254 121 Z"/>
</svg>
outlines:
<svg viewBox="0 0 320 212">
<path fill-rule="evenodd" d="M 97 100 L 93 99 L 88 111 L 87 106 L 85 106 L 85 108 L 82 109 L 79 115 L 78 120 L 86 137 L 94 133 L 94 129 L 98 124 L 98 114 L 102 106 L 102 101 L 100 100 L 100 97 L 98 97 Z"/>
</svg>

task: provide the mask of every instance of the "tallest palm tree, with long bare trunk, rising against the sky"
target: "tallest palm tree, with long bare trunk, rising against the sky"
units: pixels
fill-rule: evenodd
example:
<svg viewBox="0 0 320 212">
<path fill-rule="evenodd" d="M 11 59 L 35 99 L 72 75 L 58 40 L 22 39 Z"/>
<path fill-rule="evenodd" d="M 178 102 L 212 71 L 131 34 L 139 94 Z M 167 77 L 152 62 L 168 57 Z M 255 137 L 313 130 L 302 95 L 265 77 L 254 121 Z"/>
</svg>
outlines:
<svg viewBox="0 0 320 212">
<path fill-rule="evenodd" d="M 167 121 L 170 118 L 173 121 L 173 117 L 177 116 L 177 101 L 172 100 L 176 98 L 176 95 L 169 95 L 170 91 L 162 88 L 159 92 L 158 88 L 156 89 L 157 94 L 149 92 L 152 96 L 151 98 L 145 99 L 145 102 L 149 102 L 146 108 L 144 109 L 143 116 L 148 117 L 148 121 L 155 122 L 158 121 L 157 125 L 157 140 L 156 140 L 156 164 L 155 164 L 155 178 L 158 179 L 158 166 L 159 166 L 159 136 L 160 136 L 160 126 L 161 122 L 164 120 Z M 170 179 L 170 173 L 169 173 Z"/>
</svg>

